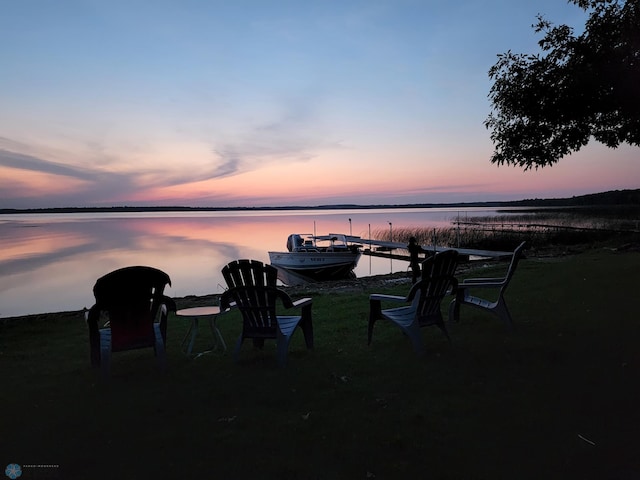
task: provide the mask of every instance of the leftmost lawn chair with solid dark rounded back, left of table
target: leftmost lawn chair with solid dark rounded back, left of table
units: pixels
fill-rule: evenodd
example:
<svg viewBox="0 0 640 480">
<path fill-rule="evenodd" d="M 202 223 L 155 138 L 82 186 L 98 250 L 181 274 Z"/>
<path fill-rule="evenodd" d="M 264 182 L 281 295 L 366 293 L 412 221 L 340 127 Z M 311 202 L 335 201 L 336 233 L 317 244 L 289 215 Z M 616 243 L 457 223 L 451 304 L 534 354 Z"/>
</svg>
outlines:
<svg viewBox="0 0 640 480">
<path fill-rule="evenodd" d="M 164 295 L 169 276 L 152 267 L 125 267 L 99 278 L 96 303 L 86 314 L 91 365 L 108 376 L 112 352 L 153 347 L 166 369 L 167 314 L 175 302 Z M 100 323 L 106 320 L 101 326 Z"/>
</svg>

